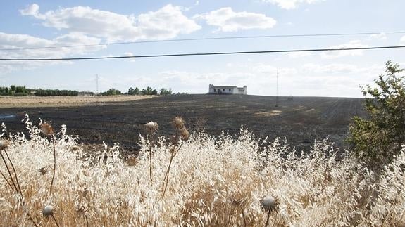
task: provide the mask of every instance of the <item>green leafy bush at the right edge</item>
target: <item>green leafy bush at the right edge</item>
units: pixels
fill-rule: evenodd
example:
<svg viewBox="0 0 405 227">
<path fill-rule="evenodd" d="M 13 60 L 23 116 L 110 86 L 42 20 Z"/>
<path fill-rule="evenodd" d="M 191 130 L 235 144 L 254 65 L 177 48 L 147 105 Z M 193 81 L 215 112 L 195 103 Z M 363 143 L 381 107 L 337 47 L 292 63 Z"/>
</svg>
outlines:
<svg viewBox="0 0 405 227">
<path fill-rule="evenodd" d="M 368 119 L 354 117 L 347 141 L 354 154 L 373 167 L 392 162 L 405 143 L 404 69 L 391 61 L 385 74 L 374 82 L 378 87 L 362 87 Z"/>
</svg>

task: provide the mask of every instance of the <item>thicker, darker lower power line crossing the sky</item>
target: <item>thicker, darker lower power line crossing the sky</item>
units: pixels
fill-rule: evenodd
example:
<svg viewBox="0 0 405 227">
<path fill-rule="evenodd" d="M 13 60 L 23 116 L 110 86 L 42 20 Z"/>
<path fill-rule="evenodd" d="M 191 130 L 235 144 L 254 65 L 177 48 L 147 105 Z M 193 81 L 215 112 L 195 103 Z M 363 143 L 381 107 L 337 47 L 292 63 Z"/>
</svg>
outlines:
<svg viewBox="0 0 405 227">
<path fill-rule="evenodd" d="M 0 58 L 0 61 L 41 61 L 41 60 L 100 60 L 100 59 L 118 59 L 118 58 L 161 58 L 161 57 L 181 57 L 181 56 L 215 56 L 230 54 L 248 54 L 248 53 L 290 53 L 290 52 L 313 52 L 313 51 L 354 51 L 354 50 L 375 50 L 405 48 L 405 46 L 370 46 L 354 48 L 318 48 L 318 49 L 295 49 L 279 51 L 235 51 L 235 52 L 208 52 L 208 53 L 173 53 L 156 54 L 143 56 L 108 56 L 108 57 L 85 57 L 85 58 Z"/>
</svg>

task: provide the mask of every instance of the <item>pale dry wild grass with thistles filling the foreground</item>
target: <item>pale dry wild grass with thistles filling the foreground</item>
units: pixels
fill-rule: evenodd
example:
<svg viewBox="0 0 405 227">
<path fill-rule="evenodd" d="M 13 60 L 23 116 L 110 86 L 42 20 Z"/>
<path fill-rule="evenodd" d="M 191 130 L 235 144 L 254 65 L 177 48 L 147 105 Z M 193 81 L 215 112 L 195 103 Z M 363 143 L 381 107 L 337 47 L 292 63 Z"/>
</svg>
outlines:
<svg viewBox="0 0 405 227">
<path fill-rule="evenodd" d="M 48 127 L 26 122 L 30 140 L 0 140 L 1 226 L 405 223 L 404 153 L 375 173 L 350 155 L 337 160 L 327 141 L 296 155 L 280 140 L 263 146 L 246 130 L 174 142 L 176 125 L 164 137 L 151 128 L 134 138 L 137 156 L 107 145 L 89 156 L 65 127 L 53 138 Z"/>
</svg>

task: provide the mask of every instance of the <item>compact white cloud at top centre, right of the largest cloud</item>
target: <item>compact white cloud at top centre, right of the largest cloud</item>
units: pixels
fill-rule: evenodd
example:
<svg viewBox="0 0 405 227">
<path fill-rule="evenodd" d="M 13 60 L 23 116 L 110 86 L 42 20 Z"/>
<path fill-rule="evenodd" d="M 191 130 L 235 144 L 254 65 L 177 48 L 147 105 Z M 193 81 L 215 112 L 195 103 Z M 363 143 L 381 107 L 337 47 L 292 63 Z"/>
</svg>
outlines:
<svg viewBox="0 0 405 227">
<path fill-rule="evenodd" d="M 208 25 L 218 27 L 218 31 L 237 32 L 249 29 L 270 29 L 277 22 L 261 13 L 235 12 L 230 7 L 195 15 L 194 18 L 206 20 Z"/>
</svg>

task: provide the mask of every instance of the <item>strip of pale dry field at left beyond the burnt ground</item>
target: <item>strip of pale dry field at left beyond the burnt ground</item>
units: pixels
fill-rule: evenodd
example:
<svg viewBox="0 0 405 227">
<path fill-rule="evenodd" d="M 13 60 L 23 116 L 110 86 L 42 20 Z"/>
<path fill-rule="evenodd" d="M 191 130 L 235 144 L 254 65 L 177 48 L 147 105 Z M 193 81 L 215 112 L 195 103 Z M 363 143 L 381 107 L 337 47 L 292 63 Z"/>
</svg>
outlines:
<svg viewBox="0 0 405 227">
<path fill-rule="evenodd" d="M 105 105 L 111 102 L 126 102 L 132 100 L 140 100 L 151 98 L 153 96 L 100 96 L 100 97 L 11 97 L 0 96 L 1 108 L 25 108 L 25 107 L 68 107 L 82 105 Z"/>
</svg>

